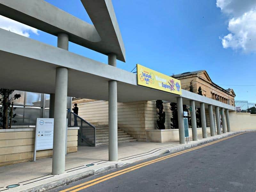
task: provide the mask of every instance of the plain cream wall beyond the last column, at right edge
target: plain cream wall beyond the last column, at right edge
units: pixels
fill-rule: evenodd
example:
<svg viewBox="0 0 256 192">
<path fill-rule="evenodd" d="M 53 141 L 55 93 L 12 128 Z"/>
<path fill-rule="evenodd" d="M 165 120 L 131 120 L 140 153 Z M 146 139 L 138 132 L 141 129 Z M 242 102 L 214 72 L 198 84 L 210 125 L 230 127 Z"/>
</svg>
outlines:
<svg viewBox="0 0 256 192">
<path fill-rule="evenodd" d="M 231 131 L 256 129 L 256 115 L 229 111 Z"/>
</svg>

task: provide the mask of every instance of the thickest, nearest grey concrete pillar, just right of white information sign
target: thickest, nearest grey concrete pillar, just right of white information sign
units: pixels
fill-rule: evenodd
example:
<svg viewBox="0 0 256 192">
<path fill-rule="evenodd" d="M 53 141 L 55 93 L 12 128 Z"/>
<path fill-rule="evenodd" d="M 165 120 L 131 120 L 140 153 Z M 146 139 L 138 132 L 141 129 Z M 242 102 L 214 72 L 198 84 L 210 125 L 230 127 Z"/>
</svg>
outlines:
<svg viewBox="0 0 256 192">
<path fill-rule="evenodd" d="M 68 35 L 58 34 L 58 47 L 68 50 Z M 56 68 L 52 174 L 65 172 L 68 69 Z"/>
</svg>

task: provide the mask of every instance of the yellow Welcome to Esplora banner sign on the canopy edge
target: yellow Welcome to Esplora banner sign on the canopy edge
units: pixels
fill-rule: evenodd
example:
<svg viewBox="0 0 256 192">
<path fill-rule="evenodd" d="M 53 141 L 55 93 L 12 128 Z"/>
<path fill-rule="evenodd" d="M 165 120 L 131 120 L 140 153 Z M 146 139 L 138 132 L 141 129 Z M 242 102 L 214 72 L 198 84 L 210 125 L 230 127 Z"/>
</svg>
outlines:
<svg viewBox="0 0 256 192">
<path fill-rule="evenodd" d="M 137 64 L 138 85 L 181 95 L 180 80 Z"/>
</svg>

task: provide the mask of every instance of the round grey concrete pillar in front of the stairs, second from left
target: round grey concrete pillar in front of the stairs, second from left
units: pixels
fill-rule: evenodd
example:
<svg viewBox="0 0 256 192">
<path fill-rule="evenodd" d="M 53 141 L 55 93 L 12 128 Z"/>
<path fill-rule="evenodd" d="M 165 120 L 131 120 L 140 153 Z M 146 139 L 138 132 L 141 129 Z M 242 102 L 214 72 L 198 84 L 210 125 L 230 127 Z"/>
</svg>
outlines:
<svg viewBox="0 0 256 192">
<path fill-rule="evenodd" d="M 116 67 L 116 55 L 108 55 L 108 64 Z M 108 160 L 118 160 L 117 140 L 117 82 L 108 81 Z"/>
</svg>

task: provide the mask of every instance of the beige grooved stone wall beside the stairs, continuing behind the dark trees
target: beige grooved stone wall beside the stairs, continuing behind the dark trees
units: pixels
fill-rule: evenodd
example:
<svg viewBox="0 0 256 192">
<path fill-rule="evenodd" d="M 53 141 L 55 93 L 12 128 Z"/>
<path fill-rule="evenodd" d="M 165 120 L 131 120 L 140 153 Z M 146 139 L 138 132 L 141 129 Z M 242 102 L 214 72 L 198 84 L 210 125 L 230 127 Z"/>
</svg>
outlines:
<svg viewBox="0 0 256 192">
<path fill-rule="evenodd" d="M 77 103 L 78 115 L 89 123 L 108 126 L 108 101 L 87 99 L 73 100 Z M 165 129 L 170 129 L 170 104 L 164 103 Z M 146 141 L 146 130 L 156 129 L 156 101 L 137 101 L 117 104 L 118 127 L 136 138 Z"/>
</svg>

